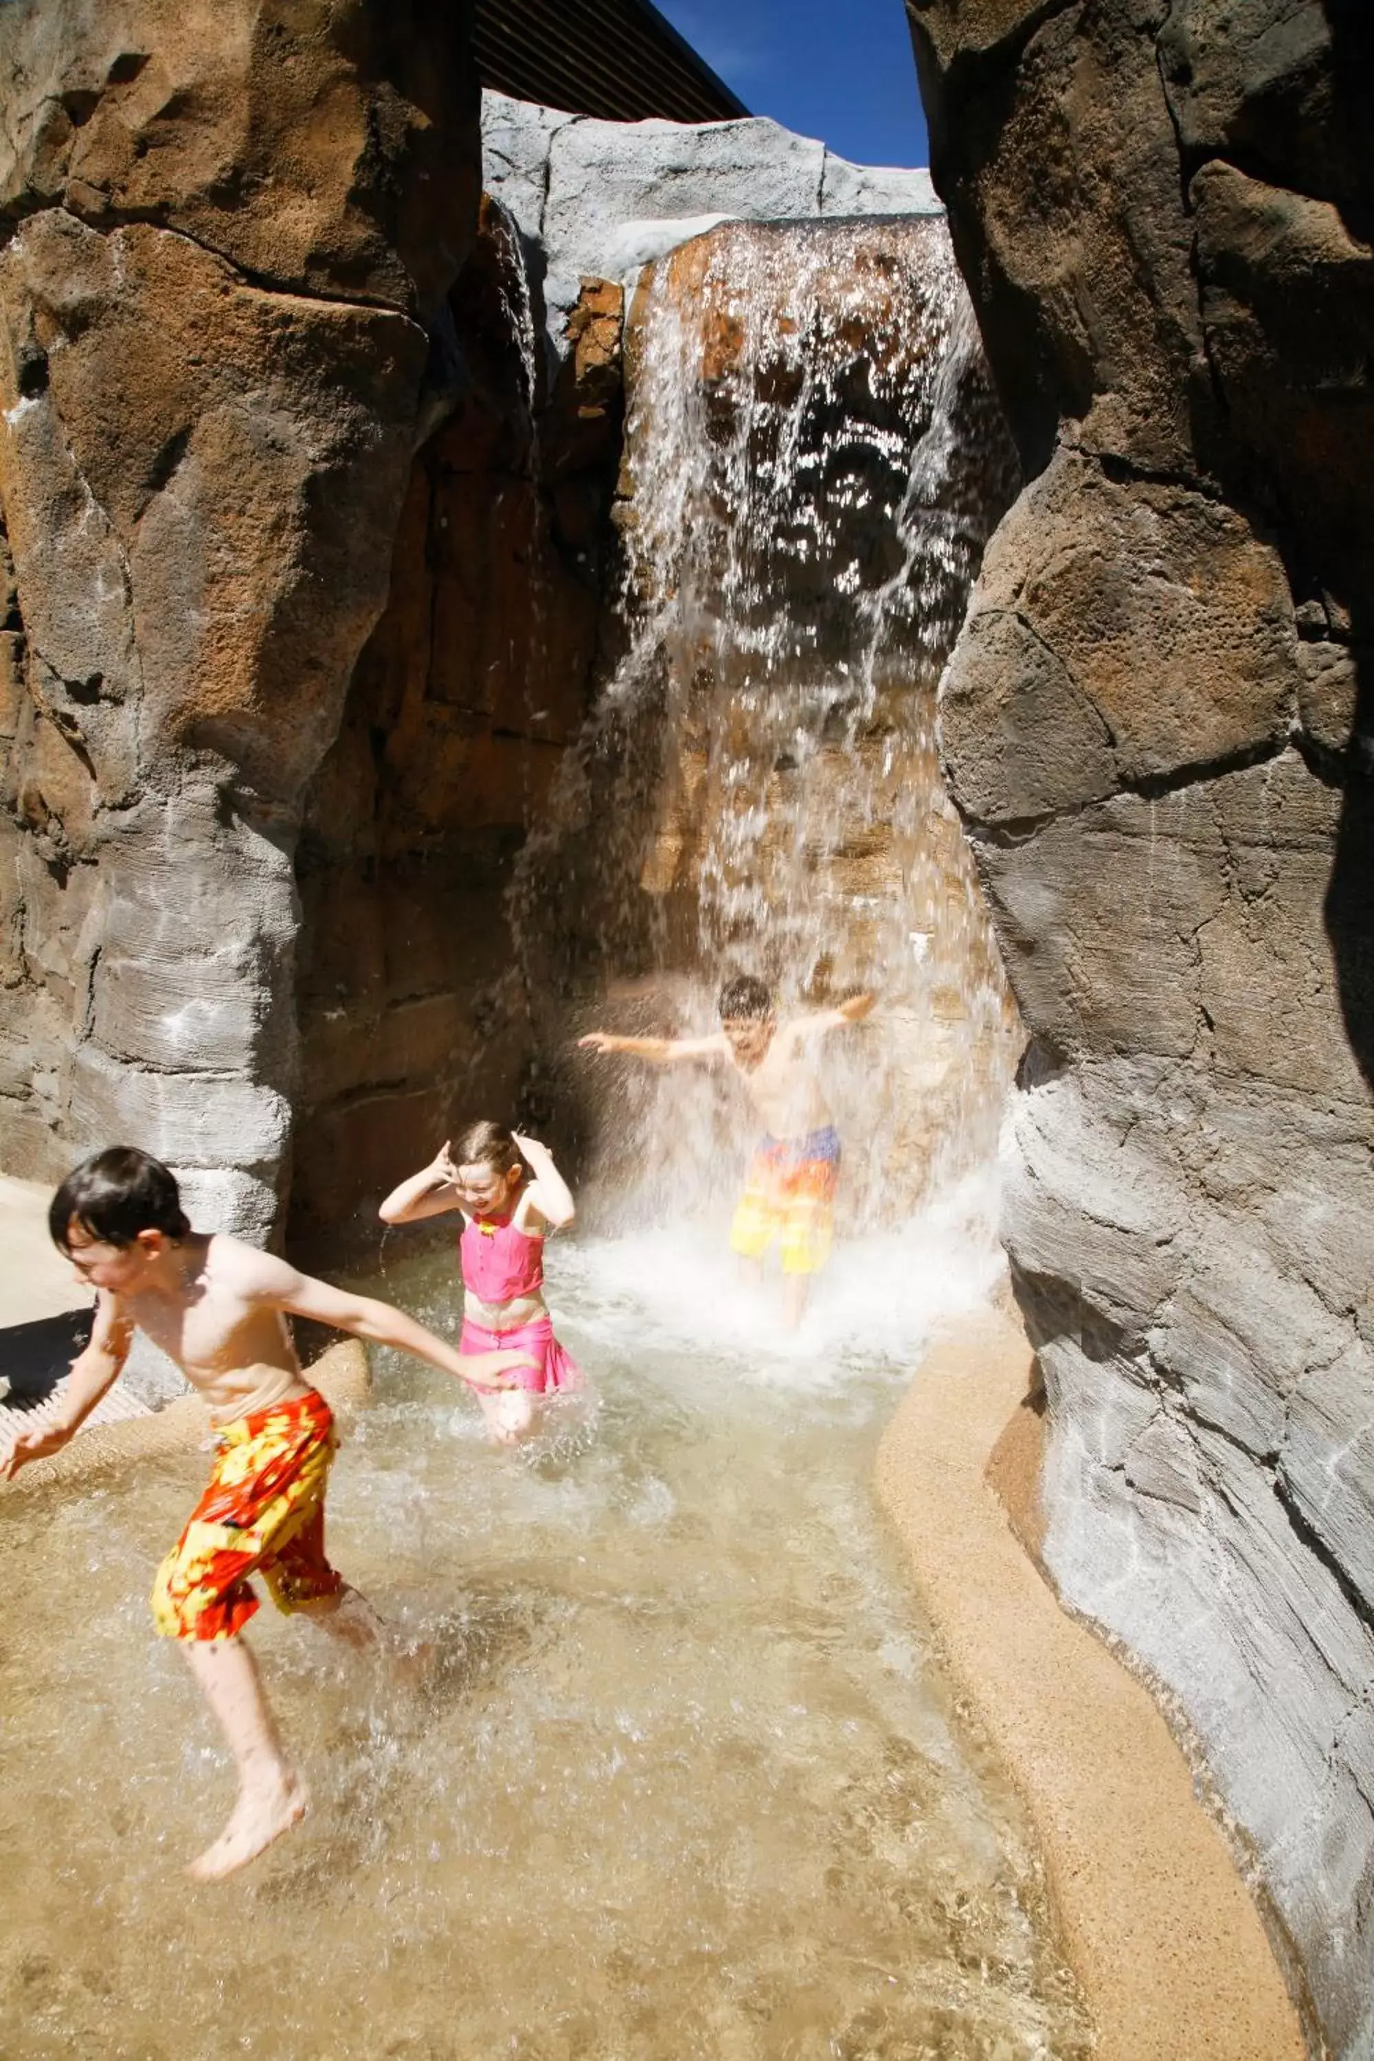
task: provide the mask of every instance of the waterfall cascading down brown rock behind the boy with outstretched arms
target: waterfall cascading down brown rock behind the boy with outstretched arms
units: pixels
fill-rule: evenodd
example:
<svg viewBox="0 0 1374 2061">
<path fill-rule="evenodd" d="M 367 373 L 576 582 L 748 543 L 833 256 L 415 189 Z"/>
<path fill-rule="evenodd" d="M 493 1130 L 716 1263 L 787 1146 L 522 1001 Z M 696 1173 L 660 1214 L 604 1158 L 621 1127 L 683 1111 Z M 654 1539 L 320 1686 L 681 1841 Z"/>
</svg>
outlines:
<svg viewBox="0 0 1374 2061">
<path fill-rule="evenodd" d="M 871 987 L 826 1086 L 843 1214 L 894 1222 L 987 1158 L 1014 1028 L 933 736 L 1016 484 L 943 223 L 696 237 L 641 284 L 626 392 L 624 649 L 521 866 L 531 989 L 566 1047 L 711 1030 L 733 971 L 785 1012 Z M 599 1066 L 604 1187 L 719 1208 L 735 1084 Z"/>
</svg>

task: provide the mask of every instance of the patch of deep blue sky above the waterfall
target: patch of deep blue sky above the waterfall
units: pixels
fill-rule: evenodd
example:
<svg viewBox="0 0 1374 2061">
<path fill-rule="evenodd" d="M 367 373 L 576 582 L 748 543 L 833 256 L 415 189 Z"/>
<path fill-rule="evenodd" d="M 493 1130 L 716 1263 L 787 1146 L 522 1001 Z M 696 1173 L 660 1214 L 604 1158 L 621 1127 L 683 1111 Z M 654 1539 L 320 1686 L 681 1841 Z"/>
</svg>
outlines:
<svg viewBox="0 0 1374 2061">
<path fill-rule="evenodd" d="M 925 165 L 902 0 L 655 0 L 756 115 L 859 165 Z"/>
</svg>

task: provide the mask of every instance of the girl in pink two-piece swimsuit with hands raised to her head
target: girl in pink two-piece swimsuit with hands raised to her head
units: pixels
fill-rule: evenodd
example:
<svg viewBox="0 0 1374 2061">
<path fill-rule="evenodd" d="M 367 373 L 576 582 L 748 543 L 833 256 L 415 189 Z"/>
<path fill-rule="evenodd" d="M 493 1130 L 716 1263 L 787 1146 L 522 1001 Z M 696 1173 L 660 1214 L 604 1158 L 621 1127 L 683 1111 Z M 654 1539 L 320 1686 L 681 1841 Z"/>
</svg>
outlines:
<svg viewBox="0 0 1374 2061">
<path fill-rule="evenodd" d="M 531 1430 L 542 1397 L 581 1383 L 544 1305 L 544 1237 L 573 1222 L 573 1195 L 538 1138 L 472 1123 L 457 1152 L 441 1146 L 428 1167 L 387 1195 L 379 1216 L 383 1224 L 414 1224 L 445 1210 L 463 1212 L 459 1352 L 519 1346 L 534 1360 L 511 1369 L 513 1387 L 478 1391 L 486 1428 L 501 1445 L 517 1445 Z"/>
</svg>

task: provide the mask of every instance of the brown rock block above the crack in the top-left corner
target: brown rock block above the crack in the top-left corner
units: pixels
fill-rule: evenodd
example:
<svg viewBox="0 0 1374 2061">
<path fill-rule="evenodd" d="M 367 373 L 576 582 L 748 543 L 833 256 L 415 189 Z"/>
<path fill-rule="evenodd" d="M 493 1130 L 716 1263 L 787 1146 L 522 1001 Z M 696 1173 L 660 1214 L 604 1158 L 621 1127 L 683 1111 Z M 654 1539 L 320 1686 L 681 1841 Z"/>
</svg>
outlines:
<svg viewBox="0 0 1374 2061">
<path fill-rule="evenodd" d="M 154 223 L 262 284 L 426 322 L 472 243 L 468 14 L 14 0 L 0 208 Z"/>
</svg>

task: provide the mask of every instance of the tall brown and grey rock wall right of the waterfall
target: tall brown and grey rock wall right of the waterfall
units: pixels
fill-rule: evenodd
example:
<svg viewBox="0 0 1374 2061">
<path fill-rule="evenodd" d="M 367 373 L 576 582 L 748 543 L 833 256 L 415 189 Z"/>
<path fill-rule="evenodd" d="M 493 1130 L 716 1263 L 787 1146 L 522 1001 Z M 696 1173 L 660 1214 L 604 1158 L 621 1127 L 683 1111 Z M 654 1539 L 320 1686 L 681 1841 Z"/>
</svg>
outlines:
<svg viewBox="0 0 1374 2061">
<path fill-rule="evenodd" d="M 1374 25 L 908 0 L 1022 455 L 941 740 L 1034 1043 L 1046 1558 L 1374 2042 Z"/>
</svg>

